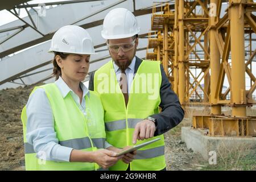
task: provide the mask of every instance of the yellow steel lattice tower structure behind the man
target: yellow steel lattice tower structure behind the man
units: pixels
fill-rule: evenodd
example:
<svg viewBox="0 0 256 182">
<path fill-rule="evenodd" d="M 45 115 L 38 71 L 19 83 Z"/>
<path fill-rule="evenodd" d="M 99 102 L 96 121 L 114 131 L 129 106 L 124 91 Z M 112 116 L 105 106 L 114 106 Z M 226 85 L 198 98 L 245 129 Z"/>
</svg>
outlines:
<svg viewBox="0 0 256 182">
<path fill-rule="evenodd" d="M 193 127 L 209 129 L 210 136 L 256 136 L 256 117 L 246 115 L 246 106 L 256 104 L 254 11 L 256 3 L 243 0 L 176 0 L 175 9 L 167 3 L 160 14 L 153 8 L 151 29 L 158 33 L 148 38 L 147 58 L 162 60 L 182 105 L 196 101 L 211 107 L 211 115 L 193 117 Z M 229 87 L 223 93 L 225 77 Z M 221 115 L 224 105 L 232 107 L 232 116 Z"/>
</svg>

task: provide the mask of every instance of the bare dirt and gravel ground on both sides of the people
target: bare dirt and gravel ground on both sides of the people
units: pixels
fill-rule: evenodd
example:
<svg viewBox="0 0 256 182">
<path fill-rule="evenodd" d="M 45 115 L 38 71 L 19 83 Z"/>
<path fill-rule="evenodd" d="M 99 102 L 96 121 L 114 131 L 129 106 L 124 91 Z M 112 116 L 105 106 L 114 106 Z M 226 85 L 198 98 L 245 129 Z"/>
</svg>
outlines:
<svg viewBox="0 0 256 182">
<path fill-rule="evenodd" d="M 0 90 L 0 170 L 24 170 L 23 129 L 20 114 L 34 86 Z M 222 109 L 230 115 L 230 107 Z M 240 148 L 240 155 L 230 154 L 217 158 L 210 165 L 200 154 L 187 148 L 181 141 L 181 127 L 191 126 L 193 114 L 208 114 L 204 106 L 188 106 L 180 125 L 164 134 L 167 170 L 256 170 L 256 148 Z M 247 115 L 256 115 L 255 107 L 247 109 Z"/>
</svg>

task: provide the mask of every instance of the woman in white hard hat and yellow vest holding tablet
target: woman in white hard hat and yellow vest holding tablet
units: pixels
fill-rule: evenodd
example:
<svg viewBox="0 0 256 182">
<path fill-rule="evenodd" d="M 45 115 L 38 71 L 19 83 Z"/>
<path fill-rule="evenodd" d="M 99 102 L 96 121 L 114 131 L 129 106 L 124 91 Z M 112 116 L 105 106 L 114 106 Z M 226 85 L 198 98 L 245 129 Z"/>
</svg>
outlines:
<svg viewBox="0 0 256 182">
<path fill-rule="evenodd" d="M 22 110 L 26 170 L 98 170 L 121 158 L 130 162 L 134 154 L 116 157 L 120 149 L 106 142 L 100 98 L 81 82 L 94 54 L 88 32 L 60 28 L 49 52 L 55 53 L 56 81 L 35 87 Z"/>
</svg>

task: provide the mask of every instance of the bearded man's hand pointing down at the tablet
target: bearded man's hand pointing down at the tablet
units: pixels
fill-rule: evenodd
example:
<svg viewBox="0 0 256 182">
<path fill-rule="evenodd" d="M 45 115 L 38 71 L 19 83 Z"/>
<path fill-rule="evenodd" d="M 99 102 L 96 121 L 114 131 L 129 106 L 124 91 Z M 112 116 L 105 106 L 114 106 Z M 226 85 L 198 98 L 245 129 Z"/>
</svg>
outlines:
<svg viewBox="0 0 256 182">
<path fill-rule="evenodd" d="M 144 140 L 148 138 L 154 137 L 155 133 L 155 123 L 144 119 L 141 122 L 138 122 L 135 126 L 135 130 L 133 133 L 133 144 L 137 143 L 138 140 Z"/>
</svg>

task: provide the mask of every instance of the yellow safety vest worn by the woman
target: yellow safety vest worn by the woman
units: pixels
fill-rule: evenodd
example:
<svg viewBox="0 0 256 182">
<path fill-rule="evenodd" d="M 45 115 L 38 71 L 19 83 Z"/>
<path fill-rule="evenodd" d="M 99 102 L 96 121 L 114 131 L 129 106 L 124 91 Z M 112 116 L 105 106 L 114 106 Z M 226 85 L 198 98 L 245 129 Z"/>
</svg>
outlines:
<svg viewBox="0 0 256 182">
<path fill-rule="evenodd" d="M 65 98 L 59 88 L 53 84 L 37 86 L 43 88 L 51 105 L 54 126 L 61 146 L 71 147 L 82 151 L 96 151 L 97 148 L 104 148 L 106 134 L 104 127 L 104 110 L 100 98 L 96 92 L 90 91 L 85 96 L 86 113 L 84 117 L 76 105 L 70 93 Z M 26 106 L 22 110 L 24 153 L 26 170 L 101 170 L 96 163 L 80 162 L 54 162 L 44 160 L 44 152 L 39 151 L 40 159 L 36 158 L 34 147 L 27 143 L 27 114 Z"/>
</svg>

